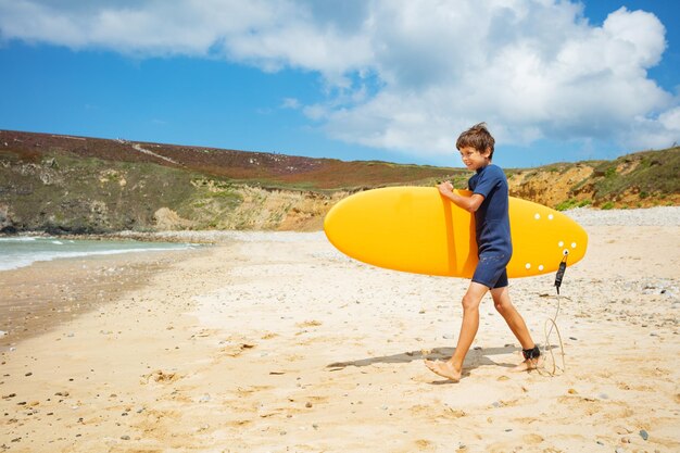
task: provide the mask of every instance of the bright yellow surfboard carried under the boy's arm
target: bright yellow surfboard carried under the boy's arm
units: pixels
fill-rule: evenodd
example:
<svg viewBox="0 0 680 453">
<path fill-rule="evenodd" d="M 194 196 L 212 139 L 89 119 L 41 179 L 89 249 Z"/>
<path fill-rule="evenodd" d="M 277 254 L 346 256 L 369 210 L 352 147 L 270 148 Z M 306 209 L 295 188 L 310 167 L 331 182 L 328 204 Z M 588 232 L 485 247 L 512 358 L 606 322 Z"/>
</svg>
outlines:
<svg viewBox="0 0 680 453">
<path fill-rule="evenodd" d="M 585 254 L 585 230 L 558 211 L 511 197 L 509 219 L 511 278 L 555 272 L 565 255 L 571 265 Z M 353 194 L 330 210 L 324 230 L 338 250 L 379 267 L 470 278 L 477 265 L 474 214 L 437 188 L 390 187 Z"/>
</svg>

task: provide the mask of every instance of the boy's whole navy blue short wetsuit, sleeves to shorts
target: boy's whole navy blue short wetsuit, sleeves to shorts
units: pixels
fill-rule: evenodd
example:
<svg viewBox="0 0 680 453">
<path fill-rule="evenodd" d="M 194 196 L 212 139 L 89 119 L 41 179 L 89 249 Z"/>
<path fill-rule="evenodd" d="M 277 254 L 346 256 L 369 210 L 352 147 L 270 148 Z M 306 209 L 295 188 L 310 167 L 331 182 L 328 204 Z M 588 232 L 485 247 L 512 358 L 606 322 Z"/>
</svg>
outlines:
<svg viewBox="0 0 680 453">
<path fill-rule="evenodd" d="M 513 255 L 507 213 L 507 179 L 501 167 L 489 164 L 477 169 L 477 174 L 469 179 L 468 187 L 474 193 L 484 198 L 475 212 L 479 264 L 473 281 L 489 288 L 506 287 L 505 266 Z"/>
</svg>

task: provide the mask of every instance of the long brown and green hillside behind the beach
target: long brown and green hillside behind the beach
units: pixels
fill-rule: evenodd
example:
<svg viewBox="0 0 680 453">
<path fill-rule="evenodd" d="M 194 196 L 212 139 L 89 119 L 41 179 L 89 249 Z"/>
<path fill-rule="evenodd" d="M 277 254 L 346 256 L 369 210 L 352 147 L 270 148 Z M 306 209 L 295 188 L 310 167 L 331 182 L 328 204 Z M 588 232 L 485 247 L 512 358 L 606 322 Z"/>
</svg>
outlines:
<svg viewBox="0 0 680 453">
<path fill-rule="evenodd" d="M 507 171 L 511 193 L 566 209 L 680 204 L 680 149 Z M 469 172 L 388 162 L 0 130 L 0 230 L 319 229 L 342 197 L 464 186 Z"/>
</svg>

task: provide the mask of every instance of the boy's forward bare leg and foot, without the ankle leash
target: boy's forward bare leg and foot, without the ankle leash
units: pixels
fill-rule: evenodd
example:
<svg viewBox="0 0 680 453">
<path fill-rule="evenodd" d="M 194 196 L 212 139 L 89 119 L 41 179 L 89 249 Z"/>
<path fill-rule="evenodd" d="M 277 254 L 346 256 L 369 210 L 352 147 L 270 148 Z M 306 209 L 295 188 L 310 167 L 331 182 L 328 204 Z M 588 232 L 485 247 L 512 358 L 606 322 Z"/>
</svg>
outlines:
<svg viewBox="0 0 680 453">
<path fill-rule="evenodd" d="M 425 361 L 425 365 L 433 373 L 446 377 L 451 380 L 459 380 L 463 372 L 463 362 L 465 355 L 473 345 L 473 340 L 479 328 L 479 303 L 489 288 L 470 282 L 467 292 L 463 297 L 463 322 L 461 323 L 461 334 L 458 335 L 458 343 L 453 356 L 446 362 Z"/>
</svg>

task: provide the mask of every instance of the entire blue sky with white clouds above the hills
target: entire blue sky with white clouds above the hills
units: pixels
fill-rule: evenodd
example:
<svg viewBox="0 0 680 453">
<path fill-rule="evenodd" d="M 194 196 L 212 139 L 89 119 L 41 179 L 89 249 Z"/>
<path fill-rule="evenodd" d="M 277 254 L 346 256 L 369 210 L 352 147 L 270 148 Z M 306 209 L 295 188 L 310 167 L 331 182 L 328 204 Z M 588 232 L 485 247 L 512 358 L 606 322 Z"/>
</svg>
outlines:
<svg viewBox="0 0 680 453">
<path fill-rule="evenodd" d="M 680 141 L 672 0 L 0 0 L 0 129 L 462 166 Z"/>
</svg>

